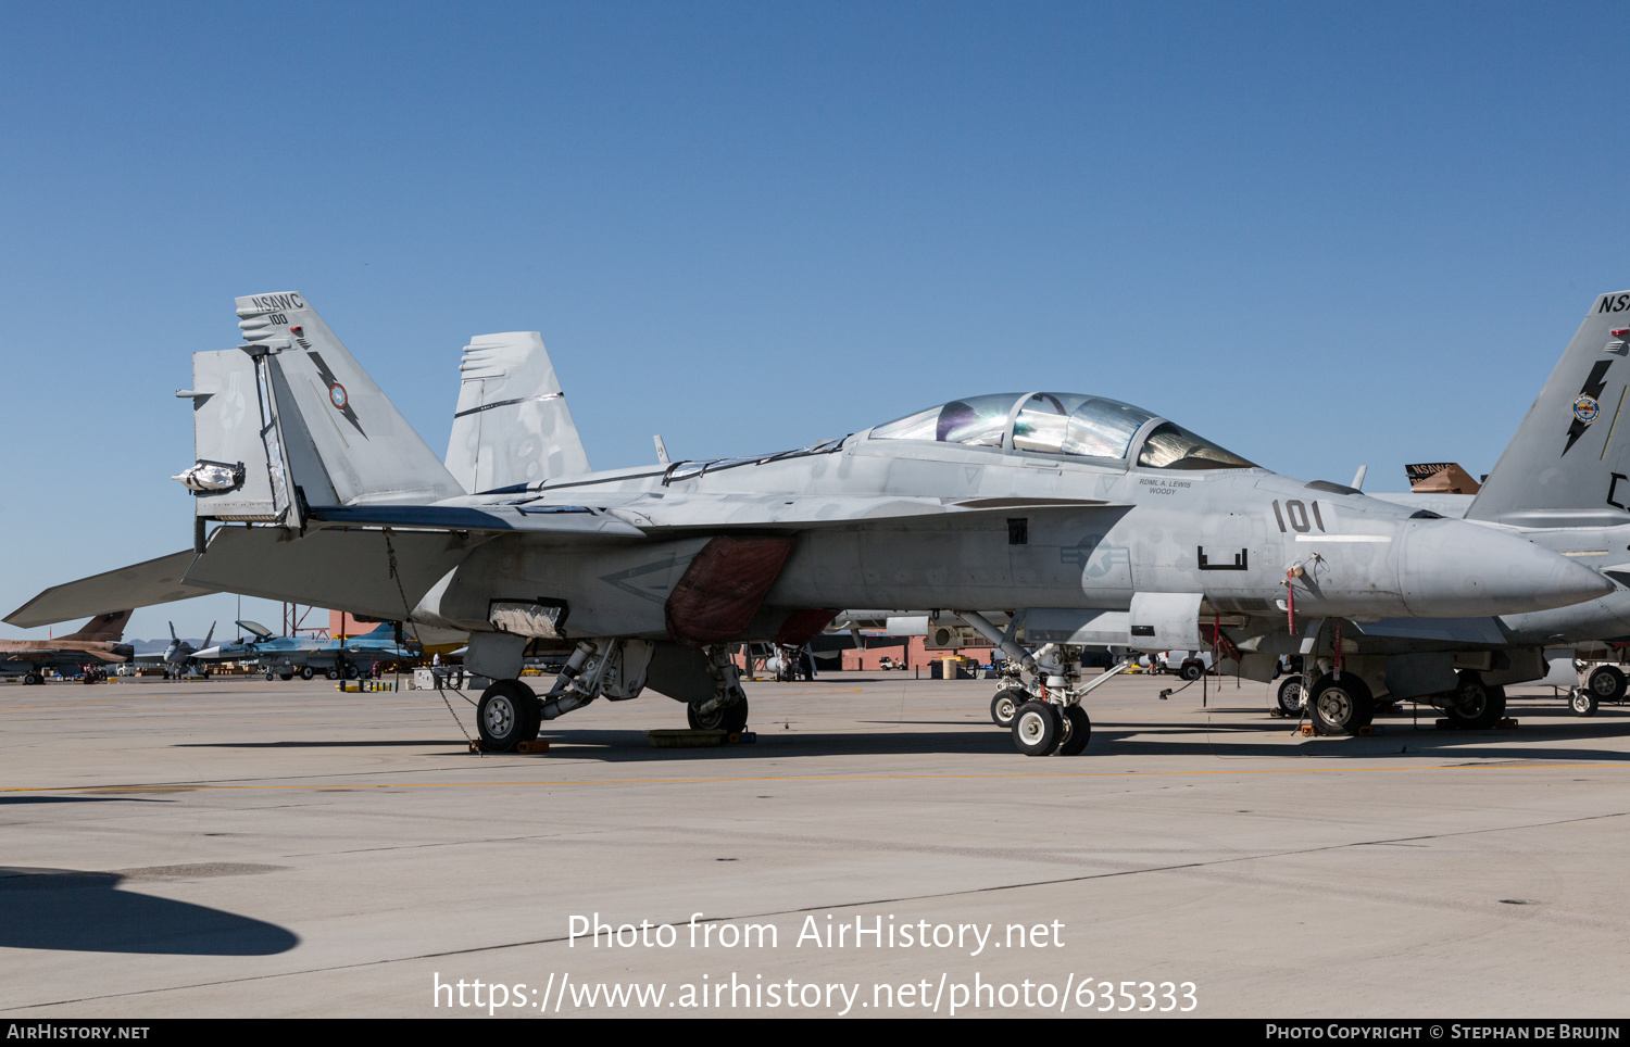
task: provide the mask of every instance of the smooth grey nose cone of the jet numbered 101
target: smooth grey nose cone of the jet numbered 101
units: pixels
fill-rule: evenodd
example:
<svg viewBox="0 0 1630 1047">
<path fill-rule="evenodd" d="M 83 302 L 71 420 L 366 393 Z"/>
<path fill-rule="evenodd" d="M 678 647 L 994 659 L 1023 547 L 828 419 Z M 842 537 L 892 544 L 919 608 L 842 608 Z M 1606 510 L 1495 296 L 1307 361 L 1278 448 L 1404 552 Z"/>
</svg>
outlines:
<svg viewBox="0 0 1630 1047">
<path fill-rule="evenodd" d="M 1527 614 L 1614 591 L 1568 557 L 1457 519 L 1410 521 L 1399 575 L 1403 604 L 1420 617 Z"/>
</svg>

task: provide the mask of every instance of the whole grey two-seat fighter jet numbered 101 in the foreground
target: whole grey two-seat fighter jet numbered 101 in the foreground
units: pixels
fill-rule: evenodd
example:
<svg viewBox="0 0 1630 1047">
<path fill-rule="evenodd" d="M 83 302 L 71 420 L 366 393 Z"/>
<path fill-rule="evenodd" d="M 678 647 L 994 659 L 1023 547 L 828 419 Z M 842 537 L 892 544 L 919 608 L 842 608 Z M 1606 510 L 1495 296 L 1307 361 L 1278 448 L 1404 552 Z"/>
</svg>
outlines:
<svg viewBox="0 0 1630 1047">
<path fill-rule="evenodd" d="M 1081 645 L 1278 648 L 1343 619 L 1544 611 L 1609 591 L 1532 542 L 1262 469 L 1154 412 L 1074 392 L 952 401 L 779 454 L 588 472 L 536 334 L 476 339 L 448 464 L 302 295 L 238 300 L 243 345 L 194 353 L 196 547 L 47 589 L 7 620 L 233 591 L 469 632 L 510 749 L 652 687 L 747 725 L 732 650 L 802 645 L 841 607 L 957 612 L 1022 668 L 1020 751 L 1077 752 Z M 207 521 L 222 526 L 205 536 Z M 1488 570 L 1498 563 L 1500 570 Z M 980 609 L 1025 622 L 1029 646 Z M 1294 632 L 1294 635 L 1288 635 Z M 1340 632 L 1340 629 L 1337 629 Z M 1337 637 L 1337 651 L 1340 651 Z M 528 653 L 566 668 L 533 694 Z M 1343 674 L 1343 669 L 1345 674 Z M 1350 729 L 1358 666 L 1315 703 Z"/>
</svg>

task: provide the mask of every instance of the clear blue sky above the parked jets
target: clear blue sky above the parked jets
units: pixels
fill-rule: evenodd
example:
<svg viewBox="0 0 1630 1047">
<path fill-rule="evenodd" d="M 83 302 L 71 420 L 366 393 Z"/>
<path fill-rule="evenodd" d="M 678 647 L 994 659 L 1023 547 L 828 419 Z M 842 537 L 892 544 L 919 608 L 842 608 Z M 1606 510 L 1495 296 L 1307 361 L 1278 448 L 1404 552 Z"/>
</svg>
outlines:
<svg viewBox="0 0 1630 1047">
<path fill-rule="evenodd" d="M 1630 287 L 1627 23 L 0 5 L 0 604 L 189 544 L 173 392 L 271 290 L 437 449 L 468 337 L 538 329 L 598 467 L 655 432 L 751 453 L 1053 388 L 1304 479 L 1487 472 L 1591 298 Z"/>
</svg>

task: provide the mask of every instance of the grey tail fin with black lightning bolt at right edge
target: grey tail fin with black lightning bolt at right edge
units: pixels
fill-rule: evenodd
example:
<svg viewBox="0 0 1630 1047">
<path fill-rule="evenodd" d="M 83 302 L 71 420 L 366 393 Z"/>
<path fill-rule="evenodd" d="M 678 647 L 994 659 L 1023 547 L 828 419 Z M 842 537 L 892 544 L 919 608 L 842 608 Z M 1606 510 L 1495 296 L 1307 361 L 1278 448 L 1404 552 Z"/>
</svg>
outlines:
<svg viewBox="0 0 1630 1047">
<path fill-rule="evenodd" d="M 1524 528 L 1630 523 L 1630 291 L 1601 295 L 1467 519 Z"/>
</svg>

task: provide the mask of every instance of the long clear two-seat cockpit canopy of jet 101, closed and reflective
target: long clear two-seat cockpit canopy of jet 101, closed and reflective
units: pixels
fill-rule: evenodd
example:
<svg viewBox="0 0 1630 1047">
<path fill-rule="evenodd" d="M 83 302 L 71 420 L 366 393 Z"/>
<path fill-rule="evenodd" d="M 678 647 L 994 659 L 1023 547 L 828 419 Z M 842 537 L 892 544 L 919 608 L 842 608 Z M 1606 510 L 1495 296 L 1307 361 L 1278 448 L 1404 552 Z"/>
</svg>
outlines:
<svg viewBox="0 0 1630 1047">
<path fill-rule="evenodd" d="M 1138 432 L 1156 418 L 1141 407 L 1081 392 L 991 392 L 879 425 L 870 438 L 1125 459 Z M 1149 430 L 1136 464 L 1143 469 L 1255 467 L 1170 422 Z"/>
</svg>

